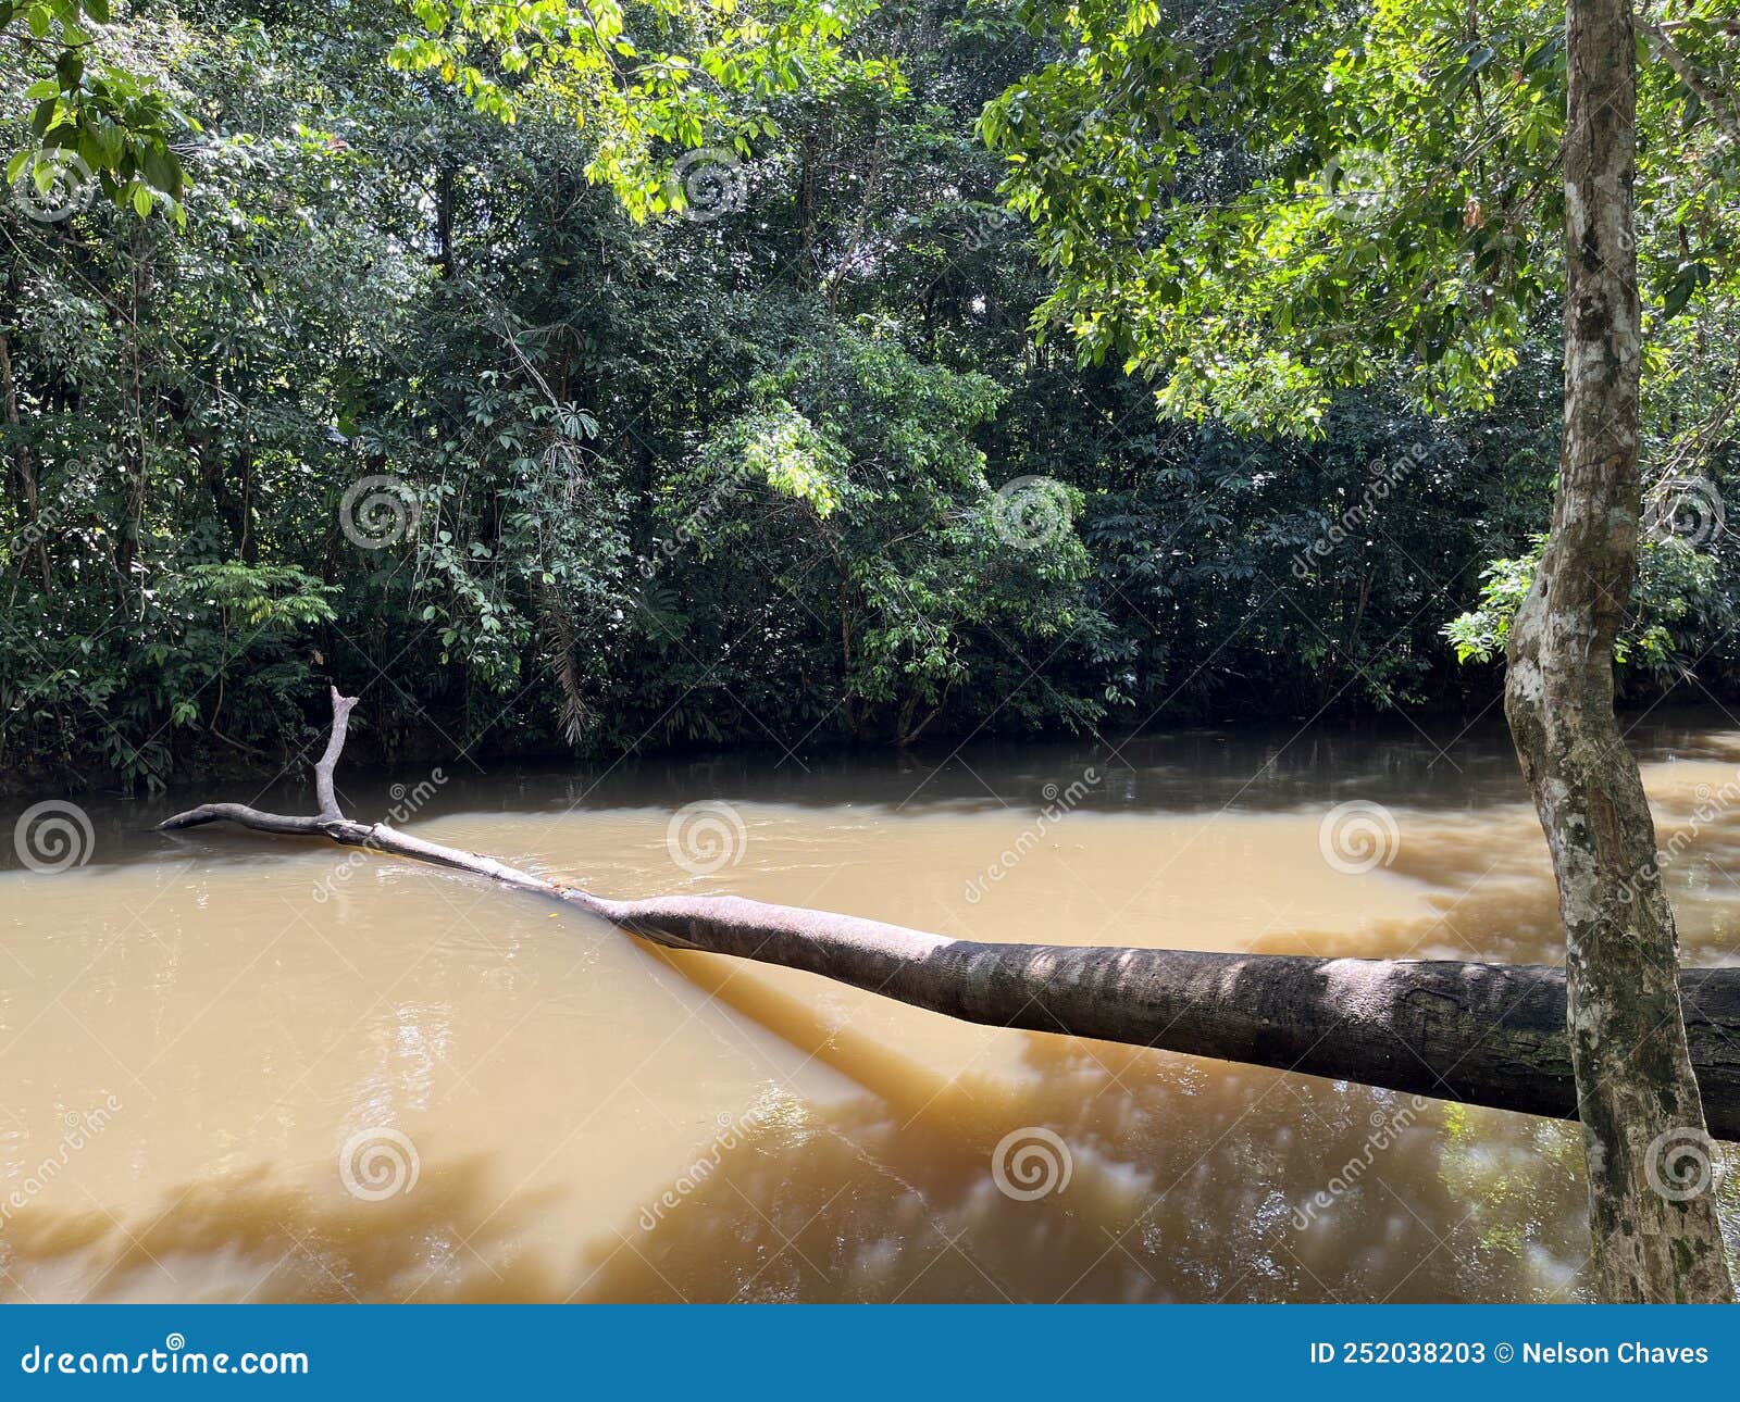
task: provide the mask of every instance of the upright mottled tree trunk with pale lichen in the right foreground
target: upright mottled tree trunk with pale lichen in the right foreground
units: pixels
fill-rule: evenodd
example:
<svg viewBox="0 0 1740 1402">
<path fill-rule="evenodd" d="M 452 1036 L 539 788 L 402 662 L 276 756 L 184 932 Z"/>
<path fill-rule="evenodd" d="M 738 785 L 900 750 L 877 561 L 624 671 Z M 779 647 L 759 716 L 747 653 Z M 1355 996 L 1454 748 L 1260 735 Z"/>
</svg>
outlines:
<svg viewBox="0 0 1740 1402">
<path fill-rule="evenodd" d="M 1637 572 L 1641 325 L 1630 0 L 1569 0 L 1564 440 L 1552 534 L 1510 631 L 1505 713 L 1559 882 L 1596 1292 L 1731 1301 L 1679 1007 L 1679 941 L 1613 644 Z"/>
</svg>

